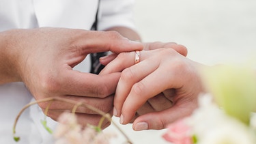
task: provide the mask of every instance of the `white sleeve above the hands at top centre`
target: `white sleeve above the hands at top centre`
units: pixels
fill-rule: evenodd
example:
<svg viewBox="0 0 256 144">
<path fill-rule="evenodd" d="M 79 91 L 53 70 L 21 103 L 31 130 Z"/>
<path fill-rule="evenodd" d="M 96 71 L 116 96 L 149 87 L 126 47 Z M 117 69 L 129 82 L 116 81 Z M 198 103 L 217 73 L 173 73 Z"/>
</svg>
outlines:
<svg viewBox="0 0 256 144">
<path fill-rule="evenodd" d="M 101 0 L 98 30 L 122 26 L 134 29 L 134 0 Z"/>
</svg>

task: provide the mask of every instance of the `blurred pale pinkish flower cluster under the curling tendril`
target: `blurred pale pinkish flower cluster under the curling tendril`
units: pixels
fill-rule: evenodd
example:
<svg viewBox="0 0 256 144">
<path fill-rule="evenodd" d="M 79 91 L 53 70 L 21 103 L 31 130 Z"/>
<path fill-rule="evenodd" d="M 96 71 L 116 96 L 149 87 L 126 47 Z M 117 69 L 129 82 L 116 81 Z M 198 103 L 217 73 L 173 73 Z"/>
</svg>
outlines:
<svg viewBox="0 0 256 144">
<path fill-rule="evenodd" d="M 82 128 L 76 115 L 72 113 L 62 113 L 58 121 L 59 125 L 54 132 L 55 144 L 109 144 L 109 140 L 114 136 L 97 132 L 94 126 Z"/>
</svg>

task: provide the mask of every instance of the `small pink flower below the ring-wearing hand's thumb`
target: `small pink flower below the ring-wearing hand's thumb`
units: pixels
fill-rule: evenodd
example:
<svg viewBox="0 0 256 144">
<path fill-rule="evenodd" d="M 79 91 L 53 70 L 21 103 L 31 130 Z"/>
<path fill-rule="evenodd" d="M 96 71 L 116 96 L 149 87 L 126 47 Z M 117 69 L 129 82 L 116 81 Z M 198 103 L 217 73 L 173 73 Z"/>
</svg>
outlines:
<svg viewBox="0 0 256 144">
<path fill-rule="evenodd" d="M 190 127 L 186 125 L 185 119 L 181 119 L 170 124 L 162 137 L 174 144 L 193 144 L 189 131 Z"/>
</svg>

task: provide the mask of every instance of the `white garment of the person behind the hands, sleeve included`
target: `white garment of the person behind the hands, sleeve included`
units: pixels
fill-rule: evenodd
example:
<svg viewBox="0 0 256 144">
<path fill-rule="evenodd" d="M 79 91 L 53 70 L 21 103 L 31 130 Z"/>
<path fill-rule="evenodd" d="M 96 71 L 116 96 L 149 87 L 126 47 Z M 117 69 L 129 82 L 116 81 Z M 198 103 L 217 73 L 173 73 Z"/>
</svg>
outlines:
<svg viewBox="0 0 256 144">
<path fill-rule="evenodd" d="M 101 0 L 98 30 L 114 26 L 134 28 L 133 3 L 133 0 Z M 0 32 L 36 27 L 91 29 L 97 9 L 97 0 L 0 0 Z M 89 59 L 76 66 L 76 70 L 83 72 L 89 72 L 89 68 Z M 16 143 L 12 139 L 14 119 L 31 100 L 33 96 L 23 83 L 0 85 L 0 143 Z M 51 134 L 42 128 L 40 119 L 44 119 L 44 115 L 38 106 L 31 106 L 21 115 L 16 127 L 19 143 L 53 143 Z M 55 124 L 48 118 L 51 128 L 54 129 Z"/>
</svg>

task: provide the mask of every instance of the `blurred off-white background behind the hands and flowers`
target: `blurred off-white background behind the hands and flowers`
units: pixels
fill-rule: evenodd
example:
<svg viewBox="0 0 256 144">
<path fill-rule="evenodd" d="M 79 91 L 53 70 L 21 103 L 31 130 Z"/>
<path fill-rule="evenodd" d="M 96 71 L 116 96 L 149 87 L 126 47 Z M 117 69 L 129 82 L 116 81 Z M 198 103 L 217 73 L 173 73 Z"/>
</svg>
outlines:
<svg viewBox="0 0 256 144">
<path fill-rule="evenodd" d="M 256 63 L 255 0 L 136 0 L 134 16 L 143 42 L 183 44 L 189 59 L 207 65 Z M 134 132 L 131 125 L 119 126 L 134 144 L 167 143 L 165 130 Z M 106 131 L 117 129 L 112 125 Z M 119 134 L 113 139 L 123 142 Z"/>
</svg>

